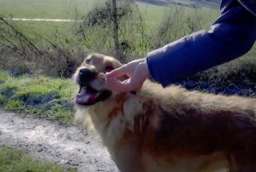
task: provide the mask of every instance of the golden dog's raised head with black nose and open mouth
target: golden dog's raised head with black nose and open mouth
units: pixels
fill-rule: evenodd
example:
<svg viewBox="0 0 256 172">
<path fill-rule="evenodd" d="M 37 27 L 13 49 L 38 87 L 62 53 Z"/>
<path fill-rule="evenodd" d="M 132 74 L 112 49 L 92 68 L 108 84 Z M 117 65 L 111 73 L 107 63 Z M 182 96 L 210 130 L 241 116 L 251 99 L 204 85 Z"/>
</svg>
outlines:
<svg viewBox="0 0 256 172">
<path fill-rule="evenodd" d="M 94 105 L 111 97 L 112 91 L 105 85 L 105 78 L 100 73 L 112 71 L 120 66 L 122 64 L 110 56 L 88 55 L 74 74 L 74 81 L 79 85 L 76 104 Z"/>
</svg>

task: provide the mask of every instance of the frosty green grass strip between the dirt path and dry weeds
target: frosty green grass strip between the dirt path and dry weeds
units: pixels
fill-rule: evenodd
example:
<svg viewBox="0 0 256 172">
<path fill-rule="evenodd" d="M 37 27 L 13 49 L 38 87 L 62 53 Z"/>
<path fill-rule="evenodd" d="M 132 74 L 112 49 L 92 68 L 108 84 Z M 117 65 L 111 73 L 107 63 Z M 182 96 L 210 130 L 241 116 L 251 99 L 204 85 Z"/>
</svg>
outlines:
<svg viewBox="0 0 256 172">
<path fill-rule="evenodd" d="M 0 107 L 5 110 L 45 116 L 60 124 L 72 123 L 75 86 L 70 79 L 13 77 L 1 71 L 0 81 Z"/>
</svg>

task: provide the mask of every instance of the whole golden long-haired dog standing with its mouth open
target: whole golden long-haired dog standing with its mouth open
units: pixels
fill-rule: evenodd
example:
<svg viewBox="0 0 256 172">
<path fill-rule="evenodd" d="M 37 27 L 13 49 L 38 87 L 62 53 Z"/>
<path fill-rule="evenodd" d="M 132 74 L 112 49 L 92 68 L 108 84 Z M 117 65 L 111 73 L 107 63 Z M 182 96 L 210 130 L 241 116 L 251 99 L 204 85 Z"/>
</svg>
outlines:
<svg viewBox="0 0 256 172">
<path fill-rule="evenodd" d="M 255 99 L 151 81 L 137 93 L 120 93 L 99 73 L 121 65 L 90 54 L 74 74 L 75 118 L 90 114 L 120 171 L 256 171 Z"/>
</svg>

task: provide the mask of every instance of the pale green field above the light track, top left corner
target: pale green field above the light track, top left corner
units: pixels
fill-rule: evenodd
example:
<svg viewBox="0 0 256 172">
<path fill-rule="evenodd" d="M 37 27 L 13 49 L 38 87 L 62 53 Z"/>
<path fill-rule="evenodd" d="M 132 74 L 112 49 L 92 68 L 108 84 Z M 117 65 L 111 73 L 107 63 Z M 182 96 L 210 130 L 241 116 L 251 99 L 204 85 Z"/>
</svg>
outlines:
<svg viewBox="0 0 256 172">
<path fill-rule="evenodd" d="M 100 0 L 0 0 L 0 15 L 29 19 L 75 19 Z"/>
</svg>

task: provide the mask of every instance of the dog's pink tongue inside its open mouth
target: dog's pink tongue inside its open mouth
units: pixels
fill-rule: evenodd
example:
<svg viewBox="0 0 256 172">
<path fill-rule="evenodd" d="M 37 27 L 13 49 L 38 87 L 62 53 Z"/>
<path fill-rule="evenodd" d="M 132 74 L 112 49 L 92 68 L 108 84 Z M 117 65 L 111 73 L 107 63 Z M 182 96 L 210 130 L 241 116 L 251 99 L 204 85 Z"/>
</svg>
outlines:
<svg viewBox="0 0 256 172">
<path fill-rule="evenodd" d="M 76 103 L 80 105 L 92 105 L 96 101 L 97 93 L 90 93 L 85 87 L 82 87 L 76 95 Z"/>
</svg>

